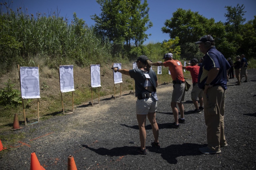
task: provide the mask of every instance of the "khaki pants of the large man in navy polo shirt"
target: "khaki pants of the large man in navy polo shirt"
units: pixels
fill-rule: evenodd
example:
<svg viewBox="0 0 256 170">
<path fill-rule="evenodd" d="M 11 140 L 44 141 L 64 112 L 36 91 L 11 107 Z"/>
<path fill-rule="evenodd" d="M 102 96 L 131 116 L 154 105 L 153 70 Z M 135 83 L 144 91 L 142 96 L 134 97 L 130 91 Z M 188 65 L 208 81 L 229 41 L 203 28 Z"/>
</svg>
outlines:
<svg viewBox="0 0 256 170">
<path fill-rule="evenodd" d="M 220 151 L 220 145 L 227 144 L 224 135 L 225 95 L 224 88 L 219 85 L 209 88 L 203 96 L 207 147 L 212 151 Z"/>
</svg>

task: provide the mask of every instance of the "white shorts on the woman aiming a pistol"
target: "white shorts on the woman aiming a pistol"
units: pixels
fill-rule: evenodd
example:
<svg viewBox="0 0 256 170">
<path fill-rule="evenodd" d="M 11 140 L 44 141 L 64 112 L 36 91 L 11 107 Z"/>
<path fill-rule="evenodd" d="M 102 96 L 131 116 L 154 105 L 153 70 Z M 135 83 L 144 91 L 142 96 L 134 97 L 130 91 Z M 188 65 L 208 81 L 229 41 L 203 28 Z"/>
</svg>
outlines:
<svg viewBox="0 0 256 170">
<path fill-rule="evenodd" d="M 137 99 L 136 101 L 136 114 L 148 115 L 148 113 L 155 113 L 157 108 L 157 101 L 150 96 L 148 99 Z"/>
</svg>

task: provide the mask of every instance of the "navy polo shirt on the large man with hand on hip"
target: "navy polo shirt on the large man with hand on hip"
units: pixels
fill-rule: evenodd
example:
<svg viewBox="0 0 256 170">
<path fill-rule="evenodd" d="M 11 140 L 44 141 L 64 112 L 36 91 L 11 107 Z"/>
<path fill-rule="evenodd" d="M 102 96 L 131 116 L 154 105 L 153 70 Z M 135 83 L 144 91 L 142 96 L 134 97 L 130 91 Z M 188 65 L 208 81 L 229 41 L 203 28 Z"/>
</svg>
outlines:
<svg viewBox="0 0 256 170">
<path fill-rule="evenodd" d="M 210 48 L 204 55 L 204 61 L 200 66 L 198 74 L 198 87 L 204 89 L 209 71 L 212 68 L 219 68 L 220 71 L 217 77 L 211 82 L 211 85 L 221 85 L 224 89 L 227 89 L 227 70 L 230 68 L 230 65 L 224 55 L 215 47 Z"/>
</svg>

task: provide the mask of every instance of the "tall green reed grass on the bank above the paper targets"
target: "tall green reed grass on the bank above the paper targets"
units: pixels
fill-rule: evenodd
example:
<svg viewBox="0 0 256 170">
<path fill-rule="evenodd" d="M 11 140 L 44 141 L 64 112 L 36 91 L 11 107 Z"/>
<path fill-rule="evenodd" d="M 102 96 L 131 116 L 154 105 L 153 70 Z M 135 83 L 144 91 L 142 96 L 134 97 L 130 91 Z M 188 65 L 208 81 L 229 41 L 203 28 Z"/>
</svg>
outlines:
<svg viewBox="0 0 256 170">
<path fill-rule="evenodd" d="M 3 70 L 10 69 L 13 64 L 28 65 L 35 58 L 50 68 L 67 63 L 87 66 L 112 61 L 112 44 L 100 37 L 93 26 L 88 27 L 77 18 L 76 13 L 69 23 L 67 18 L 59 16 L 58 9 L 46 16 L 45 13 L 29 14 L 21 7 L 14 11 L 8 6 L 10 4 L 0 4 Z"/>
</svg>

